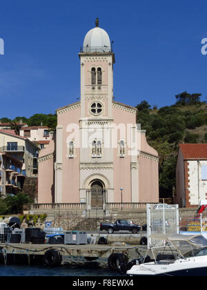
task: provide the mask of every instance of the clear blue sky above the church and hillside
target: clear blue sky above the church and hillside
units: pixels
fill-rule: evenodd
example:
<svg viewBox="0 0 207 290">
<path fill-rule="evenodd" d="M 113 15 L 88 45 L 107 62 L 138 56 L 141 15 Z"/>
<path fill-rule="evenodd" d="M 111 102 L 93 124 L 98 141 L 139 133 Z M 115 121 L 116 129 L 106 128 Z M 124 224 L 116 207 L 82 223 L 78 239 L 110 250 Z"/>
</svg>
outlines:
<svg viewBox="0 0 207 290">
<path fill-rule="evenodd" d="M 206 13 L 206 0 L 0 0 L 0 117 L 77 101 L 78 52 L 96 17 L 115 41 L 115 100 L 170 106 L 185 90 L 206 100 Z"/>
</svg>

